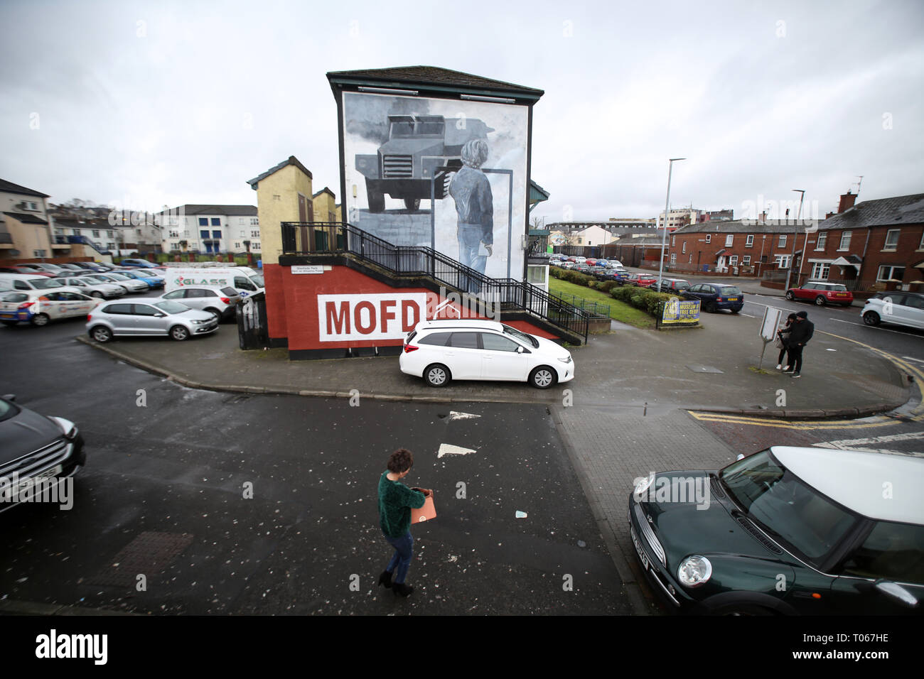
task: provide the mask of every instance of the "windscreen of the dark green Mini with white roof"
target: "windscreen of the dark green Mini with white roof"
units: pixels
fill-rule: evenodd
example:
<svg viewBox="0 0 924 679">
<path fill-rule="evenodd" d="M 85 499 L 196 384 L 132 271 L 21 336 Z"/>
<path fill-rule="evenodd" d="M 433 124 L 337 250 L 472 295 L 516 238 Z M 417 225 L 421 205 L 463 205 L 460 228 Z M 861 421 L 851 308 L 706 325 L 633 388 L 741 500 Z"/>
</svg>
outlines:
<svg viewBox="0 0 924 679">
<path fill-rule="evenodd" d="M 719 478 L 748 518 L 815 565 L 858 520 L 797 479 L 769 451 L 725 467 Z"/>
</svg>

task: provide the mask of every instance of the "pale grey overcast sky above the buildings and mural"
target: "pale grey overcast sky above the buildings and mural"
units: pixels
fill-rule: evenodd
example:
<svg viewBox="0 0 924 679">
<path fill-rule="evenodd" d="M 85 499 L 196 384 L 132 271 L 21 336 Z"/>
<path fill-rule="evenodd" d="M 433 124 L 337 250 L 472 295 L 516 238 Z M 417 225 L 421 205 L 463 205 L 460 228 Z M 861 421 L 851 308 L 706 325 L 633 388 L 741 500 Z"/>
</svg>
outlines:
<svg viewBox="0 0 924 679">
<path fill-rule="evenodd" d="M 0 5 L 0 177 L 119 207 L 256 204 L 295 155 L 339 194 L 331 70 L 428 65 L 545 91 L 532 215 L 653 217 L 924 192 L 924 3 Z M 337 200 L 340 200 L 337 195 Z M 747 216 L 747 215 L 745 215 Z"/>
</svg>

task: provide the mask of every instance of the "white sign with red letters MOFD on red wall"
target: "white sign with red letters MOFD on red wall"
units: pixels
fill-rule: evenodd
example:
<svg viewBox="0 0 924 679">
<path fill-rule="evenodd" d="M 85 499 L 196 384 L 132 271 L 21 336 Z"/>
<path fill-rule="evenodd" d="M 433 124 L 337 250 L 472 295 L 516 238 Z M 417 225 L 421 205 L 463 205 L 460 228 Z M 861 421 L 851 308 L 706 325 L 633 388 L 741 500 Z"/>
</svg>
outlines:
<svg viewBox="0 0 924 679">
<path fill-rule="evenodd" d="M 427 293 L 319 295 L 318 340 L 404 339 L 423 321 Z"/>
</svg>

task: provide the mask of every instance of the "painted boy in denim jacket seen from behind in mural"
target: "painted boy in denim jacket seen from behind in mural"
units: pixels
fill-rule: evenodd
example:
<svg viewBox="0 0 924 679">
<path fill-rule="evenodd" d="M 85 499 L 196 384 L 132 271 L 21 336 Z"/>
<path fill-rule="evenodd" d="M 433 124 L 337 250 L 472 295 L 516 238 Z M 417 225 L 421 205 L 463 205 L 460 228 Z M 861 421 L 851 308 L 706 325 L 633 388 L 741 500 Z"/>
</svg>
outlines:
<svg viewBox="0 0 924 679">
<path fill-rule="evenodd" d="M 458 213 L 459 262 L 484 273 L 494 245 L 494 206 L 491 182 L 480 167 L 488 160 L 488 142 L 471 139 L 462 147 L 462 168 L 449 180 L 449 195 Z M 469 280 L 469 293 L 480 285 Z"/>
</svg>

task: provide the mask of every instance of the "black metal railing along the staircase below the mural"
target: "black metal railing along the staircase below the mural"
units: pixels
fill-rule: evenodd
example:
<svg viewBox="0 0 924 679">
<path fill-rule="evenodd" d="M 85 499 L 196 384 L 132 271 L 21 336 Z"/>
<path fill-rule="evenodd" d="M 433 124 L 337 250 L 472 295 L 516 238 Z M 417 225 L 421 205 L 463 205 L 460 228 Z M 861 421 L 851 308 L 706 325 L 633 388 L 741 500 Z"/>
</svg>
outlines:
<svg viewBox="0 0 924 679">
<path fill-rule="evenodd" d="M 590 314 L 531 283 L 491 278 L 432 248 L 394 245 L 346 222 L 283 222 L 281 226 L 284 255 L 349 252 L 392 273 L 430 276 L 476 300 L 500 304 L 501 309 L 529 311 L 587 343 Z"/>
</svg>

